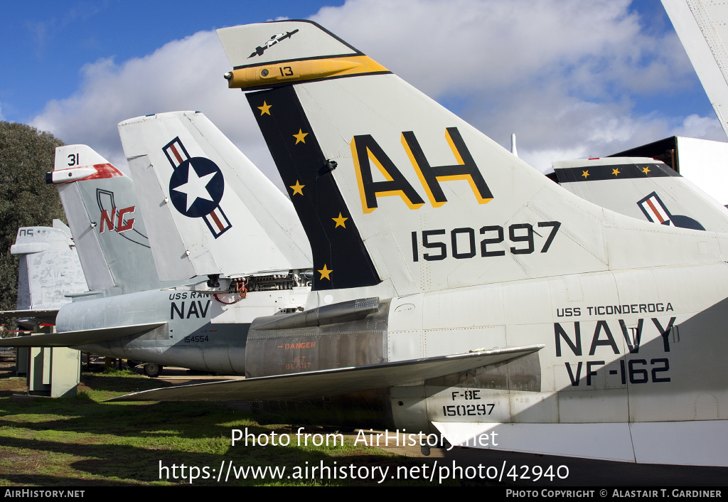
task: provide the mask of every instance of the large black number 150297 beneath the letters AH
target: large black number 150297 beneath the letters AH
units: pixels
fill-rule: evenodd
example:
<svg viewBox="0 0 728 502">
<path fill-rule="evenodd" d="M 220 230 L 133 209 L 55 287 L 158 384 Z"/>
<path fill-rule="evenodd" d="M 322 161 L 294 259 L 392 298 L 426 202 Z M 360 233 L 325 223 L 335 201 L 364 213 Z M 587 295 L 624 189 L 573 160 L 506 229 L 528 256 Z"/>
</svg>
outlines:
<svg viewBox="0 0 728 502">
<path fill-rule="evenodd" d="M 548 228 L 550 232 L 541 246 L 542 253 L 546 253 L 553 239 L 561 227 L 560 221 L 539 221 L 537 227 Z M 419 238 L 418 232 L 412 232 L 412 259 L 419 262 Z M 437 262 L 438 260 L 448 257 L 448 244 L 446 242 L 438 242 L 438 235 L 446 235 L 445 229 L 439 230 L 423 230 L 422 246 L 428 250 L 437 252 L 427 252 L 422 254 L 427 262 Z M 475 229 L 470 227 L 456 228 L 450 231 L 450 254 L 455 259 L 473 258 L 480 255 L 483 258 L 488 256 L 505 256 L 505 249 L 497 246 L 505 240 L 505 231 L 499 225 L 491 225 L 480 228 L 480 235 L 486 238 L 480 240 L 480 249 L 475 244 Z M 534 230 L 534 226 L 530 223 L 516 223 L 508 227 L 508 240 L 513 243 L 510 246 L 511 254 L 531 254 L 536 249 L 534 235 L 544 239 L 544 236 Z M 525 244 L 525 246 L 524 246 Z M 478 251 L 480 251 L 478 253 Z"/>
</svg>

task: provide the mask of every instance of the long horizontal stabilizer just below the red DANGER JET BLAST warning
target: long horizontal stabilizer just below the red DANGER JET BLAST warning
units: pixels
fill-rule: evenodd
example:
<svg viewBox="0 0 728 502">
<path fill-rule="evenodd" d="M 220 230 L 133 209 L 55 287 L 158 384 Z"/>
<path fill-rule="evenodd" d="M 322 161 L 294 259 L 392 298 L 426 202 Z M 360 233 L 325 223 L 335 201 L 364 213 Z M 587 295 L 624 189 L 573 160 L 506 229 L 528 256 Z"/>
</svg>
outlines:
<svg viewBox="0 0 728 502">
<path fill-rule="evenodd" d="M 526 356 L 543 347 L 544 345 L 529 345 L 497 348 L 456 356 L 324 369 L 317 372 L 277 374 L 271 377 L 226 382 L 179 385 L 178 387 L 127 394 L 109 399 L 109 401 L 275 401 L 277 399 L 336 396 L 465 372 L 480 366 Z"/>
</svg>

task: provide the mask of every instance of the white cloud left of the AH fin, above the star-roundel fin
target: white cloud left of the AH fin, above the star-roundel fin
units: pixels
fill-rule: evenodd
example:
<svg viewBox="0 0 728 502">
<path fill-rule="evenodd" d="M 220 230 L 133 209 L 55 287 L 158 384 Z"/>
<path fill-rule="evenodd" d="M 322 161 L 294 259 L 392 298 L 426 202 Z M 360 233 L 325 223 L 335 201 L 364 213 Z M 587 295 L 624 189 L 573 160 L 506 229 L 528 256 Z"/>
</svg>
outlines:
<svg viewBox="0 0 728 502">
<path fill-rule="evenodd" d="M 103 59 L 84 66 L 78 92 L 47 103 L 31 124 L 67 144 L 87 144 L 126 169 L 116 124 L 162 111 L 202 111 L 282 187 L 245 95 L 228 89 L 223 79 L 229 69 L 215 32 L 201 31 L 145 58 L 119 64 Z"/>
</svg>

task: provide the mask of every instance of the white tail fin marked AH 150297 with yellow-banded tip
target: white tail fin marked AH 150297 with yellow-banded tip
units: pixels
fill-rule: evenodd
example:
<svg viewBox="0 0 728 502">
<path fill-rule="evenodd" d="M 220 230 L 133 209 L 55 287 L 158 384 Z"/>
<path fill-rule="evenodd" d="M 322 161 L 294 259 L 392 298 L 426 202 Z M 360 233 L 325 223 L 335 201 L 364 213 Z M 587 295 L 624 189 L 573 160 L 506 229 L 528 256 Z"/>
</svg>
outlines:
<svg viewBox="0 0 728 502">
<path fill-rule="evenodd" d="M 248 58 L 293 29 L 295 44 Z M 699 253 L 704 233 L 656 231 L 561 189 L 315 23 L 218 35 L 229 87 L 258 90 L 246 97 L 309 236 L 322 301 L 720 259 L 714 238 Z"/>
</svg>

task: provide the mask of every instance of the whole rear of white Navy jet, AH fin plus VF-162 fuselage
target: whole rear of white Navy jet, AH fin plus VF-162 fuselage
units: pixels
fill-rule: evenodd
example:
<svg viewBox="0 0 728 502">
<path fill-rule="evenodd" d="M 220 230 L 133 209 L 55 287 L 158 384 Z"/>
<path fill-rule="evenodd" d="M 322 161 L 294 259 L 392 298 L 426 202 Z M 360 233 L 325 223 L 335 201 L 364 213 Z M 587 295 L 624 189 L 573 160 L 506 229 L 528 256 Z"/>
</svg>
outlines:
<svg viewBox="0 0 728 502">
<path fill-rule="evenodd" d="M 250 380 L 213 395 L 256 399 L 257 377 L 298 372 L 278 384 L 320 390 L 269 399 L 356 395 L 264 397 L 259 413 L 321 424 L 328 409 L 328 425 L 470 447 L 728 465 L 721 234 L 582 200 L 315 23 L 218 34 L 229 87 L 257 91 L 246 97 L 312 245 L 315 296 L 253 321 Z M 521 356 L 439 377 L 408 362 L 496 347 Z M 336 385 L 352 367 L 371 373 Z M 476 444 L 486 431 L 503 442 Z"/>
</svg>

